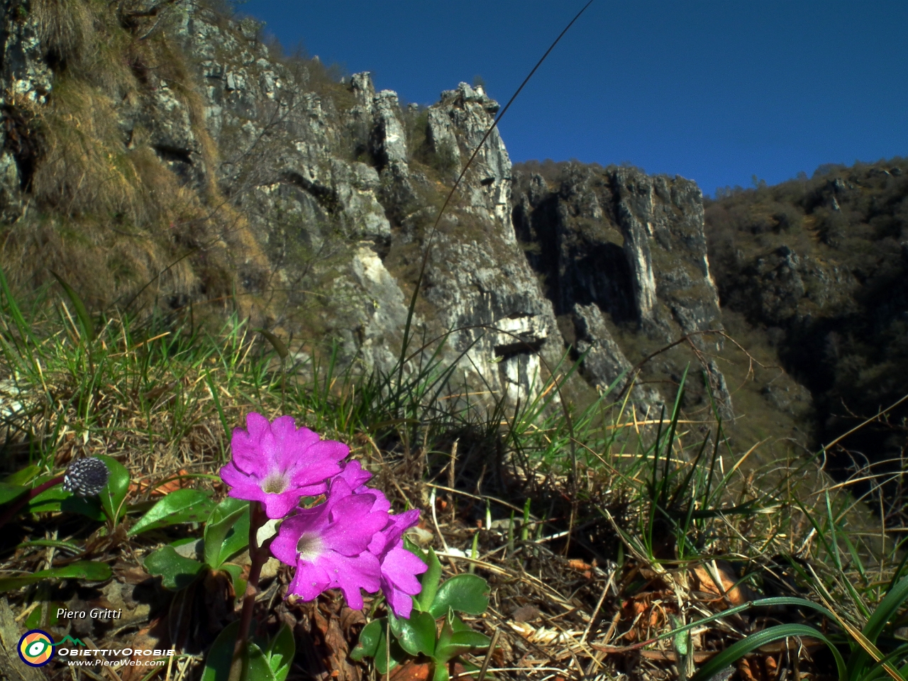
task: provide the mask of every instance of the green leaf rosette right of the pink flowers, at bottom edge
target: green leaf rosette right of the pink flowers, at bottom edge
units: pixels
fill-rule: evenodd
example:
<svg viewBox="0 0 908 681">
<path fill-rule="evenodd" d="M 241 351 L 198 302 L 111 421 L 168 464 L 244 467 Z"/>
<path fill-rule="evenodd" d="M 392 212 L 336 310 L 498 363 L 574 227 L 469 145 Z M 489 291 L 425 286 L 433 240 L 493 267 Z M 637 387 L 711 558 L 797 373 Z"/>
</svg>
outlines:
<svg viewBox="0 0 908 681">
<path fill-rule="evenodd" d="M 421 551 L 409 541 L 407 548 L 429 566 L 420 578 L 422 590 L 414 598 L 409 619 L 387 617 L 372 620 L 360 633 L 350 657 L 372 657 L 380 674 L 411 656 L 429 657 L 434 681 L 448 681 L 448 663 L 469 650 L 488 648 L 489 637 L 473 631 L 456 613 L 481 615 L 489 607 L 489 584 L 476 575 L 458 575 L 440 583 L 441 564 L 435 551 Z M 444 618 L 440 630 L 439 619 Z"/>
</svg>

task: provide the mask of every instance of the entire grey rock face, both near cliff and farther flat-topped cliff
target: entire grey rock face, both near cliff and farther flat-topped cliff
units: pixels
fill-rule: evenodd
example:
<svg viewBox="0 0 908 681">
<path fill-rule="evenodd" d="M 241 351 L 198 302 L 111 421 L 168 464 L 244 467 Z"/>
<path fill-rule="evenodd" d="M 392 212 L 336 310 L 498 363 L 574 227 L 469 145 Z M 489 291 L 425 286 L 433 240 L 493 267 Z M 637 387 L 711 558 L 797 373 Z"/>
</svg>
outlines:
<svg viewBox="0 0 908 681">
<path fill-rule="evenodd" d="M 109 304 L 144 291 L 143 277 L 155 282 L 155 300 L 177 311 L 232 298 L 257 324 L 335 339 L 345 360 L 388 371 L 419 283 L 411 348 L 444 338 L 441 358 L 456 364 L 449 389 L 489 401 L 540 390 L 568 347 L 586 353 L 583 375 L 601 390 L 636 375 L 628 339 L 665 344 L 687 334 L 695 351 L 716 342 L 701 333 L 719 328 L 719 310 L 694 183 L 577 164 L 558 177 L 515 178 L 495 130 L 439 221 L 498 112 L 481 87 L 461 83 L 438 104 L 401 108 L 395 93 L 375 92 L 369 74 L 338 83 L 317 59 L 272 55 L 250 20 L 202 7 L 150 16 L 139 5 L 86 5 L 91 30 L 76 25 L 82 34 L 63 42 L 51 5 L 3 3 L 0 210 L 7 232 L 31 224 L 31 202 L 54 219 L 91 218 L 100 244 L 141 236 L 141 248 L 127 246 L 147 256 L 148 271 L 131 256 L 138 273 L 106 289 L 76 279 L 86 298 Z M 79 55 L 98 51 L 72 45 L 92 41 L 122 54 L 89 69 Z M 98 195 L 77 209 L 32 183 L 52 167 L 52 153 L 66 153 L 47 146 L 55 138 L 39 134 L 41 125 L 54 133 L 54 115 L 89 120 L 74 87 L 109 112 L 83 151 L 122 159 L 123 195 L 150 196 L 140 180 L 156 182 L 158 212 L 104 194 L 101 166 L 92 170 L 101 173 Z M 61 257 L 77 248 L 62 244 Z M 171 261 L 182 264 L 163 265 Z M 38 276 L 19 269 L 20 280 Z M 652 371 L 676 381 L 676 364 Z M 707 367 L 730 410 L 721 373 Z M 625 388 L 642 408 L 671 396 Z"/>
</svg>

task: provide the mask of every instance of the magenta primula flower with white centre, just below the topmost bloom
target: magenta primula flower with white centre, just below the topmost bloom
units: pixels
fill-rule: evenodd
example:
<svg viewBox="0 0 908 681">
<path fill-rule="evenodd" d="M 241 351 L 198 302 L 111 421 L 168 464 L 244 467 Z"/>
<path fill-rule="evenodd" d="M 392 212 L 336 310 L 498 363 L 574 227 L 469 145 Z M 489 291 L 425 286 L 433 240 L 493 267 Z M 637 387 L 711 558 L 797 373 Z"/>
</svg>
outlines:
<svg viewBox="0 0 908 681">
<path fill-rule="evenodd" d="M 300 508 L 281 523 L 271 553 L 296 566 L 291 593 L 312 600 L 326 588 L 340 588 L 347 605 L 360 609 L 360 587 L 379 590 L 380 560 L 367 547 L 387 527 L 388 513 L 373 510 L 373 491 L 355 494 L 345 479 L 335 478 L 325 503 Z"/>
</svg>

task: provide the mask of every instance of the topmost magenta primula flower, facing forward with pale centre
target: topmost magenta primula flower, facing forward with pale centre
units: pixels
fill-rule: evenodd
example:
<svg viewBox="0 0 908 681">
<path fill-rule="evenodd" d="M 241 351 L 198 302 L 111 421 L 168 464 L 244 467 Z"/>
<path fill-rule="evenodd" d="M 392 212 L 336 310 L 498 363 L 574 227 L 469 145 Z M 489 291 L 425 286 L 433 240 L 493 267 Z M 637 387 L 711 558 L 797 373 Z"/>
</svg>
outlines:
<svg viewBox="0 0 908 681">
<path fill-rule="evenodd" d="M 230 496 L 261 501 L 269 518 L 285 517 L 301 497 L 323 494 L 326 480 L 341 472 L 338 462 L 350 453 L 342 442 L 297 428 L 290 416 L 270 423 L 254 411 L 246 430 L 233 429 L 231 449 L 233 458 L 221 469 Z"/>
</svg>

